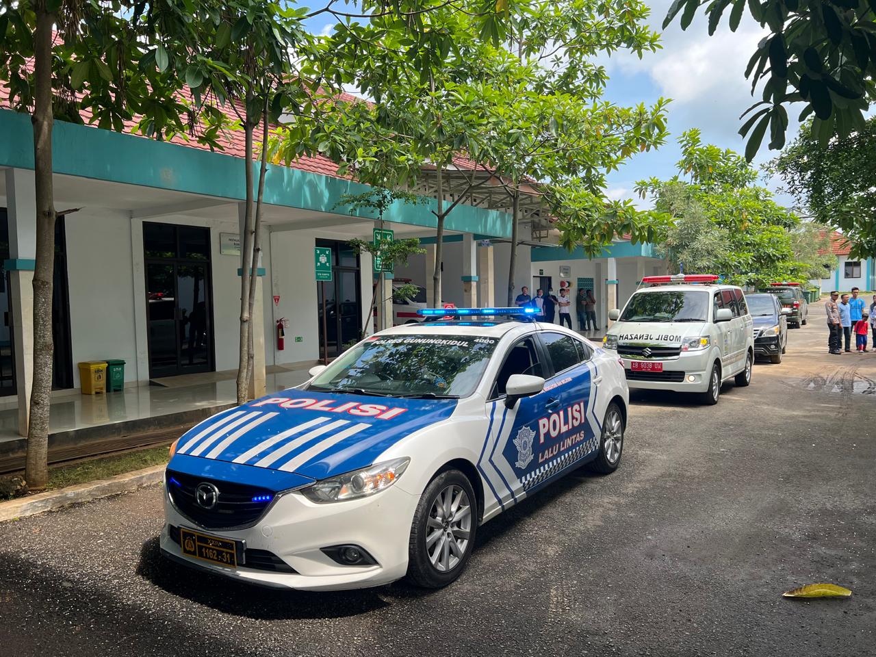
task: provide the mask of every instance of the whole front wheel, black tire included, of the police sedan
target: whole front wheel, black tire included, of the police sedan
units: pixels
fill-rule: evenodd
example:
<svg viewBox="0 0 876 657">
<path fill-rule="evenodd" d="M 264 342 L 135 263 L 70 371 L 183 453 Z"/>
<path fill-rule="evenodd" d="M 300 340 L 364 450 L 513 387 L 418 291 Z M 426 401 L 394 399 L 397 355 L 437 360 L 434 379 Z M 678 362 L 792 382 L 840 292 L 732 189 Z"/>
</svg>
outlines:
<svg viewBox="0 0 876 657">
<path fill-rule="evenodd" d="M 445 504 L 456 505 L 456 512 L 449 518 Z M 460 515 L 466 505 L 468 512 Z M 413 513 L 407 579 L 424 589 L 441 589 L 454 582 L 475 547 L 477 519 L 477 497 L 469 478 L 459 470 L 435 475 Z"/>
</svg>

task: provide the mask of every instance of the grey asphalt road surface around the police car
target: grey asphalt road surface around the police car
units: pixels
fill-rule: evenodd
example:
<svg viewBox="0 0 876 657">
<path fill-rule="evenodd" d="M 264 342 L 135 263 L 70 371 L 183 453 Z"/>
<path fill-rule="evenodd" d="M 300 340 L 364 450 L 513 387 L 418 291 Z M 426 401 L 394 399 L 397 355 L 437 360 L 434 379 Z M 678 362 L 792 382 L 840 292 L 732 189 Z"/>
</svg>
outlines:
<svg viewBox="0 0 876 657">
<path fill-rule="evenodd" d="M 823 319 L 718 406 L 635 395 L 621 468 L 483 527 L 445 590 L 250 588 L 159 556 L 160 490 L 0 525 L 0 652 L 876 654 L 876 354 Z M 784 590 L 841 583 L 850 598 Z"/>
</svg>

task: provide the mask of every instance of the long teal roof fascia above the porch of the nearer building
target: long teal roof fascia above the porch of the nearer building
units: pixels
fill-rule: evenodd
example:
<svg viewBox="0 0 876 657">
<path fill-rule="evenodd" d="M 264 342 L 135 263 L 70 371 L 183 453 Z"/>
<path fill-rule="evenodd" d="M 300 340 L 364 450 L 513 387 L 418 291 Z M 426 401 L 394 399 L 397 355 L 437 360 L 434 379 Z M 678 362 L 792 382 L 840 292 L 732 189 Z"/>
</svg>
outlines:
<svg viewBox="0 0 876 657">
<path fill-rule="evenodd" d="M 28 115 L 0 109 L 0 166 L 33 168 L 33 128 Z M 244 159 L 219 152 L 159 142 L 130 134 L 100 130 L 86 125 L 55 121 L 52 135 L 53 167 L 63 173 L 93 180 L 109 180 L 139 187 L 154 187 L 192 194 L 205 194 L 243 201 Z M 258 180 L 258 162 L 251 166 Z M 337 206 L 342 194 L 361 194 L 370 187 L 309 173 L 289 166 L 268 165 L 265 173 L 265 203 L 333 214 L 350 214 Z M 411 206 L 396 201 L 384 213 L 393 223 L 436 228 L 433 209 L 437 202 Z M 376 219 L 370 210 L 353 213 Z M 447 230 L 511 237 L 510 215 L 498 210 L 460 204 L 444 221 Z"/>
</svg>

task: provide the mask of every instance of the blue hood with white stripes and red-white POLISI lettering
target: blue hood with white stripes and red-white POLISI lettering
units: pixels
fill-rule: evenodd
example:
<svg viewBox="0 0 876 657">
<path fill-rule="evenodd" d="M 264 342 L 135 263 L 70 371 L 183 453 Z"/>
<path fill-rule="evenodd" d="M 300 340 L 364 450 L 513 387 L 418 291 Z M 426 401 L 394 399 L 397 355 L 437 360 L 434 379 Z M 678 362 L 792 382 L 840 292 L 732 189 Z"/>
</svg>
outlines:
<svg viewBox="0 0 876 657">
<path fill-rule="evenodd" d="M 455 408 L 456 399 L 285 390 L 204 420 L 183 434 L 173 458 L 323 479 L 371 465 L 396 442 L 446 420 Z"/>
</svg>

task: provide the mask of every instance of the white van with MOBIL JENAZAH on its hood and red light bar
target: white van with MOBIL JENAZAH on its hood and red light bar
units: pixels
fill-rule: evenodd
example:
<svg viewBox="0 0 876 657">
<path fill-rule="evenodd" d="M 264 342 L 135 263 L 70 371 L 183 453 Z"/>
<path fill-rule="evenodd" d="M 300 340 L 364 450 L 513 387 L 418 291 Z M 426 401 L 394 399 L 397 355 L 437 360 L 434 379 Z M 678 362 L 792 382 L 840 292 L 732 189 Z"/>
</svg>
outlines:
<svg viewBox="0 0 876 657">
<path fill-rule="evenodd" d="M 647 276 L 603 339 L 624 361 L 627 385 L 699 393 L 717 404 L 721 384 L 752 380 L 754 332 L 745 294 L 711 274 Z"/>
</svg>

